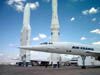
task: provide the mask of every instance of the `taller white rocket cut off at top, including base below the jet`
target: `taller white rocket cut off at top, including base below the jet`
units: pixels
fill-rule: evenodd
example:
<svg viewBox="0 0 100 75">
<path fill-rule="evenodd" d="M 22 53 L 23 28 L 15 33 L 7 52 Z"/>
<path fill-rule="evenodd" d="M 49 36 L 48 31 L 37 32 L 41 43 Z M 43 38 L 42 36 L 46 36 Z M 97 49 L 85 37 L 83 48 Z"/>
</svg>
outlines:
<svg viewBox="0 0 100 75">
<path fill-rule="evenodd" d="M 52 21 L 51 21 L 51 42 L 59 41 L 59 20 L 58 20 L 58 5 L 57 0 L 52 0 Z M 51 53 L 50 63 L 57 64 L 60 61 L 60 55 Z"/>
</svg>

